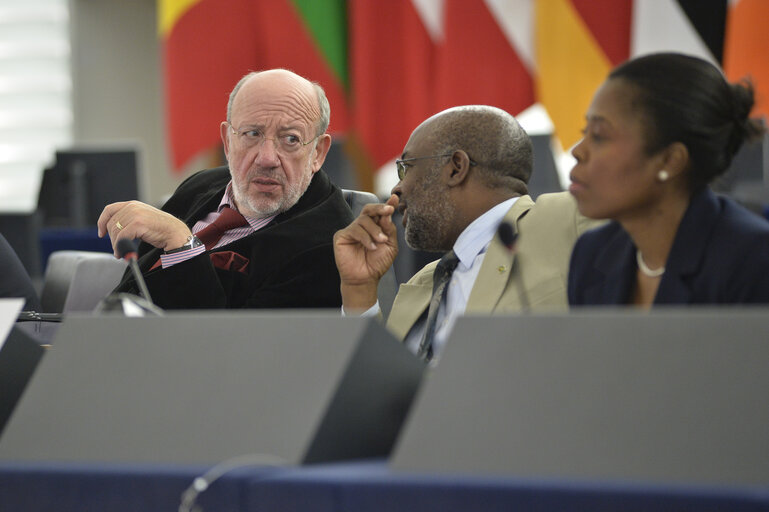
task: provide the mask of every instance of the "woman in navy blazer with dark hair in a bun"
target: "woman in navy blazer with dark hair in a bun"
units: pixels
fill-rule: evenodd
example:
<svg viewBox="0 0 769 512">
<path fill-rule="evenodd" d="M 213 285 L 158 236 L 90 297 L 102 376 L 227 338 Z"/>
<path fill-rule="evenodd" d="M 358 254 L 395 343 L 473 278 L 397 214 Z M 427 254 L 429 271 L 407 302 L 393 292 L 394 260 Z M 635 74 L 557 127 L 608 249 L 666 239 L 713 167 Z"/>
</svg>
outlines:
<svg viewBox="0 0 769 512">
<path fill-rule="evenodd" d="M 569 302 L 769 303 L 769 222 L 708 188 L 742 143 L 749 83 L 663 53 L 616 68 L 596 92 L 572 154 L 580 212 L 609 224 L 574 247 Z"/>
</svg>

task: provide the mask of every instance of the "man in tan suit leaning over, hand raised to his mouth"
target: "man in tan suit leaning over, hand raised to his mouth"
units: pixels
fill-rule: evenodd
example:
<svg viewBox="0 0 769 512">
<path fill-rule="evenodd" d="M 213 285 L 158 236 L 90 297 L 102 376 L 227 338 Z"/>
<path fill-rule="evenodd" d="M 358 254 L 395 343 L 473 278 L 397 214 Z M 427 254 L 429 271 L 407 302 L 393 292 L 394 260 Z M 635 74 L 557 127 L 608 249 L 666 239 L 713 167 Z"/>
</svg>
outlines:
<svg viewBox="0 0 769 512">
<path fill-rule="evenodd" d="M 430 263 L 395 298 L 387 326 L 420 357 L 439 354 L 459 315 L 565 308 L 571 248 L 590 222 L 568 193 L 536 203 L 526 195 L 532 161 L 526 132 L 494 107 L 455 107 L 420 124 L 396 162 L 390 199 L 334 236 L 345 313 L 377 309 L 377 284 L 398 252 L 395 208 L 409 246 L 449 251 L 456 268 L 442 291 L 439 263 Z M 519 235 L 513 248 L 497 235 L 501 223 Z"/>
</svg>

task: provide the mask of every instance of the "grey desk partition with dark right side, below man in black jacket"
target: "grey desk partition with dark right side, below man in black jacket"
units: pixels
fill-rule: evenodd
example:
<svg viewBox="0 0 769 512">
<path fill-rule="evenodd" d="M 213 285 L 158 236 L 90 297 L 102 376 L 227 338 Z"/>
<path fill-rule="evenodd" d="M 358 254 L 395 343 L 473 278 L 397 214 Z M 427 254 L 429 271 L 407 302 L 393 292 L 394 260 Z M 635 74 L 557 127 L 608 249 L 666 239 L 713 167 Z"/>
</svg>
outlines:
<svg viewBox="0 0 769 512">
<path fill-rule="evenodd" d="M 5 461 L 386 457 L 423 365 L 373 319 L 70 316 L 0 438 Z"/>
</svg>

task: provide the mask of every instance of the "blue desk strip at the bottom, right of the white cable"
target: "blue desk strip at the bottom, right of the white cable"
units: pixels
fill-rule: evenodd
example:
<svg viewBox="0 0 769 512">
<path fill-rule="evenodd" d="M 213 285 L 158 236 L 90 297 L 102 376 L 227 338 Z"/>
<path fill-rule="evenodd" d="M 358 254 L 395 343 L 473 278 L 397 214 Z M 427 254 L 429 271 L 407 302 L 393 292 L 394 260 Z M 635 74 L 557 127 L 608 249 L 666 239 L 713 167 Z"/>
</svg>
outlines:
<svg viewBox="0 0 769 512">
<path fill-rule="evenodd" d="M 665 488 L 394 473 L 382 463 L 287 469 L 254 479 L 244 510 L 758 511 L 769 489 Z"/>
</svg>

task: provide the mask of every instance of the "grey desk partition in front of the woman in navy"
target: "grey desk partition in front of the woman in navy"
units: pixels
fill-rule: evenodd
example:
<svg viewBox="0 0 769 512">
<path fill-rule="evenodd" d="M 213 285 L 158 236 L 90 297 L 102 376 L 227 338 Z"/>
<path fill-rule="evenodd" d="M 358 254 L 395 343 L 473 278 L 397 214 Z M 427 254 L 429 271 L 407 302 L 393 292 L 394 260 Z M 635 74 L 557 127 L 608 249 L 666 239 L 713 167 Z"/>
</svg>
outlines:
<svg viewBox="0 0 769 512">
<path fill-rule="evenodd" d="M 397 470 L 769 485 L 769 311 L 462 318 Z"/>
</svg>

